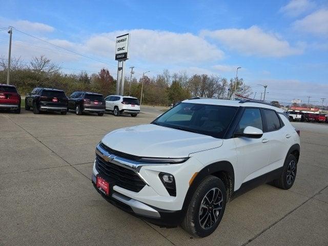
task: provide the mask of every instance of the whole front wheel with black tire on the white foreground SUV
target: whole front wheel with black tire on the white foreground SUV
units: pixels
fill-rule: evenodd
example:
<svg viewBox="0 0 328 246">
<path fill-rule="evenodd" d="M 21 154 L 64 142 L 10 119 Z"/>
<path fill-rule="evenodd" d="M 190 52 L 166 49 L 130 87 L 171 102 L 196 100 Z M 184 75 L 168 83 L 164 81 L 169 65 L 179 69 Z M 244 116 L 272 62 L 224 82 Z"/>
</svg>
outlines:
<svg viewBox="0 0 328 246">
<path fill-rule="evenodd" d="M 210 199 L 207 200 L 206 197 Z M 209 200 L 211 200 L 210 203 Z M 214 176 L 206 177 L 189 203 L 185 218 L 181 223 L 182 228 L 196 237 L 209 236 L 218 227 L 226 209 L 226 203 L 227 192 L 222 180 Z"/>
</svg>

